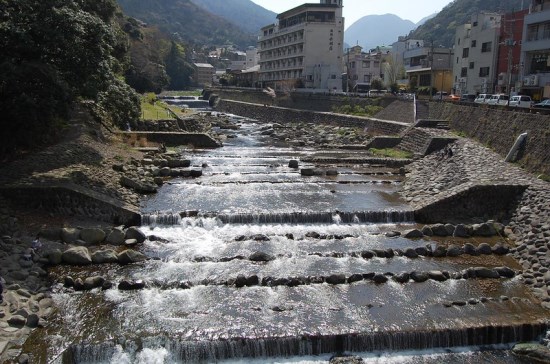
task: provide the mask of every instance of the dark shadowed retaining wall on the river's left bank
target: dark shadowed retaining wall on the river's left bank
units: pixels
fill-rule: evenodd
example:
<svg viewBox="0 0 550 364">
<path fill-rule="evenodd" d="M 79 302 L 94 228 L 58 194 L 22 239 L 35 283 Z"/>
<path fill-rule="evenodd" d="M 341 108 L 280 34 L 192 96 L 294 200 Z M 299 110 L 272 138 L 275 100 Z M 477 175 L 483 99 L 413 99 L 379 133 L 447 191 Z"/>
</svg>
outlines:
<svg viewBox="0 0 550 364">
<path fill-rule="evenodd" d="M 26 208 L 65 216 L 93 218 L 115 225 L 139 225 L 136 207 L 75 184 L 8 186 L 0 194 Z"/>
</svg>

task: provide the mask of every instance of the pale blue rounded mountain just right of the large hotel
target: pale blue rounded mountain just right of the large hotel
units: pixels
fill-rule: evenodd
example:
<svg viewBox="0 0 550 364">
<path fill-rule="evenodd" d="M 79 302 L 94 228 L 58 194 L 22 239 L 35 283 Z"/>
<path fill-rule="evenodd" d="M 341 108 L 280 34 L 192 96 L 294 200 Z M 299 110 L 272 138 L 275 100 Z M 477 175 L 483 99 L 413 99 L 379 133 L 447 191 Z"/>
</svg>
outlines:
<svg viewBox="0 0 550 364">
<path fill-rule="evenodd" d="M 391 45 L 400 35 L 408 34 L 416 25 L 397 15 L 367 15 L 353 23 L 344 33 L 344 41 L 359 44 L 368 50 L 379 45 Z"/>
</svg>

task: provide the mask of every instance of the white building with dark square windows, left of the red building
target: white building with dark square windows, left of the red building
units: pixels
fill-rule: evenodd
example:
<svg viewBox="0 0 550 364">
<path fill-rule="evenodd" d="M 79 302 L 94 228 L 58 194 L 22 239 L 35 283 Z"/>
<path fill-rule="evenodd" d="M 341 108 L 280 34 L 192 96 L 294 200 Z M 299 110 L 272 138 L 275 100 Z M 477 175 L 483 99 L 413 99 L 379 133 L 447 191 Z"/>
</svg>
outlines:
<svg viewBox="0 0 550 364">
<path fill-rule="evenodd" d="M 482 12 L 457 27 L 453 59 L 454 89 L 458 94 L 494 93 L 501 16 Z"/>
</svg>

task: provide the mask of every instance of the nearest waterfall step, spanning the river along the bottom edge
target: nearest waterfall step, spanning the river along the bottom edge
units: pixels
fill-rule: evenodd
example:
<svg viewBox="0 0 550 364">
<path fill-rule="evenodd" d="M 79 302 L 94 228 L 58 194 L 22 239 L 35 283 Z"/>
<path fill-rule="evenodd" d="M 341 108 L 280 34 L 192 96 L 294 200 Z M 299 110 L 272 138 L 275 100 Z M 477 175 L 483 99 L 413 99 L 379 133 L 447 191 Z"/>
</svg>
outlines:
<svg viewBox="0 0 550 364">
<path fill-rule="evenodd" d="M 453 347 L 511 345 L 536 340 L 545 334 L 543 320 L 431 330 L 359 332 L 340 335 L 304 334 L 292 337 L 235 337 L 223 340 L 192 341 L 177 337 L 139 337 L 116 342 L 73 344 L 64 353 L 63 362 L 109 362 L 120 350 L 135 353 L 158 347 L 167 348 L 170 360 L 217 362 L 238 358 L 284 358 L 343 352 L 379 352 L 426 350 Z"/>
</svg>

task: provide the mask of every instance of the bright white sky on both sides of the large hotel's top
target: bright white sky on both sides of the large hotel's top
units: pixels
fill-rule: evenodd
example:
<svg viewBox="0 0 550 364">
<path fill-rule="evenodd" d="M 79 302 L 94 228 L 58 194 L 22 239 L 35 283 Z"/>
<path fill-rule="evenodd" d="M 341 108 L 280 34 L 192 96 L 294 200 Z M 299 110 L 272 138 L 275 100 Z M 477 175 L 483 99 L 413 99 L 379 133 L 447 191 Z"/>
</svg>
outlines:
<svg viewBox="0 0 550 364">
<path fill-rule="evenodd" d="M 256 4 L 282 13 L 304 3 L 319 3 L 319 0 L 252 0 Z M 438 13 L 452 0 L 344 0 L 346 28 L 366 15 L 395 14 L 413 23 Z"/>
</svg>

